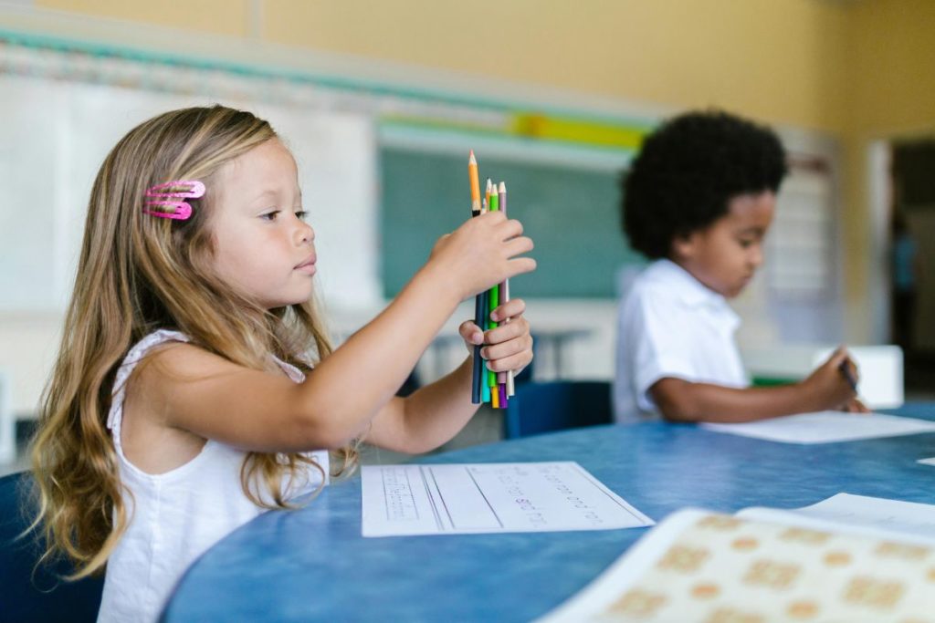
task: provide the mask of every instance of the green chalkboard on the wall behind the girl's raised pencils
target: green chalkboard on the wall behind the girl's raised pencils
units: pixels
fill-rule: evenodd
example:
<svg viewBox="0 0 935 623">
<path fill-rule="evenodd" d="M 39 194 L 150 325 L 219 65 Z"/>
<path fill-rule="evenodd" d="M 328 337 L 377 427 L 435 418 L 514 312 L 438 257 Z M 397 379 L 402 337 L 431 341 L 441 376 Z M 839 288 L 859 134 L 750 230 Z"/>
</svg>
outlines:
<svg viewBox="0 0 935 623">
<path fill-rule="evenodd" d="M 467 157 L 381 149 L 381 270 L 395 296 L 439 235 L 470 216 Z M 480 155 L 480 154 L 479 154 Z M 538 262 L 511 281 L 524 298 L 614 298 L 619 268 L 642 262 L 620 229 L 620 172 L 479 159 L 481 185 L 507 184 L 508 211 L 523 221 Z M 483 192 L 483 188 L 481 189 Z"/>
</svg>

